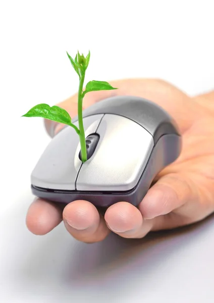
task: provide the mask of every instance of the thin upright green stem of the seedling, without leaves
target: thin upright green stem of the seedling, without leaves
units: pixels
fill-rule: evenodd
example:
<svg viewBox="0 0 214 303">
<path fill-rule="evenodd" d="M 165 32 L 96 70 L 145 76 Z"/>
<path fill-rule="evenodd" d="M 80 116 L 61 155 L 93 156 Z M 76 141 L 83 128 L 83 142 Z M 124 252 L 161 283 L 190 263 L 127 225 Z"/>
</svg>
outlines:
<svg viewBox="0 0 214 303">
<path fill-rule="evenodd" d="M 84 79 L 85 79 L 85 73 L 82 73 L 80 75 L 79 91 L 78 91 L 78 122 L 79 122 L 79 138 L 80 138 L 82 162 L 87 161 L 85 131 L 83 126 L 83 118 L 82 118 L 82 100 L 83 100 L 82 90 L 83 90 Z"/>
</svg>

